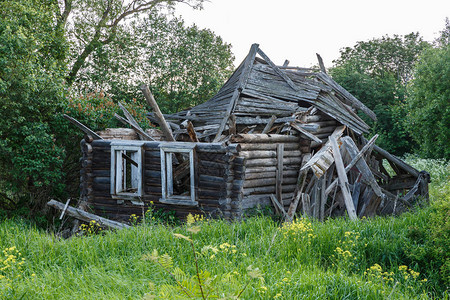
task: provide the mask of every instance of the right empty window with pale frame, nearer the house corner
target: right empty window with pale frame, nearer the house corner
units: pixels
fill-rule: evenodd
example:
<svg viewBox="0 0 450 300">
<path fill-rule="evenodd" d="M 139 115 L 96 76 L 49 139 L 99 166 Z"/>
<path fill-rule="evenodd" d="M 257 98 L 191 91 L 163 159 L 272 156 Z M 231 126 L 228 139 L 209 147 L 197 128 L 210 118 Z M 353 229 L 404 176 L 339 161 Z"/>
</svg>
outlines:
<svg viewBox="0 0 450 300">
<path fill-rule="evenodd" d="M 171 143 L 160 146 L 161 202 L 196 206 L 195 144 Z"/>
</svg>

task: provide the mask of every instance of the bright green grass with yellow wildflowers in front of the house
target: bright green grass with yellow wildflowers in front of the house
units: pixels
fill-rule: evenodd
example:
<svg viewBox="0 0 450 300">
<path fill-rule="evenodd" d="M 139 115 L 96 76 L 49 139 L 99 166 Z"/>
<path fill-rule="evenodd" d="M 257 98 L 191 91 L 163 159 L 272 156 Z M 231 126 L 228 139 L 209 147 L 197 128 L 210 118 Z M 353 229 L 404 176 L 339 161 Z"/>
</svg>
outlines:
<svg viewBox="0 0 450 300">
<path fill-rule="evenodd" d="M 397 218 L 171 227 L 149 218 L 69 240 L 4 220 L 0 298 L 448 299 L 449 165 L 407 159 L 432 173 L 431 205 Z"/>
</svg>

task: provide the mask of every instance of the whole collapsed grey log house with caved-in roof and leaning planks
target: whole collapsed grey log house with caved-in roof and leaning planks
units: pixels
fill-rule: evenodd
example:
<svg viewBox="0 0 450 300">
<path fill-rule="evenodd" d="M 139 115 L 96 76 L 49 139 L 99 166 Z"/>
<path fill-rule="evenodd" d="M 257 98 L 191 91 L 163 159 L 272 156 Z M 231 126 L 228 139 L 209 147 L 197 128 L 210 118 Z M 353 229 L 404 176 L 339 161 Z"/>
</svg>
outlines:
<svg viewBox="0 0 450 300">
<path fill-rule="evenodd" d="M 171 115 L 153 106 L 161 131 L 87 133 L 81 199 L 128 220 L 156 209 L 239 219 L 270 205 L 291 220 L 396 214 L 428 197 L 428 173 L 364 137 L 360 111 L 375 114 L 321 70 L 276 66 L 257 44 L 209 101 Z M 76 122 L 75 120 L 72 120 Z M 387 162 L 387 163 L 385 163 Z M 387 169 L 390 170 L 387 170 Z"/>
</svg>

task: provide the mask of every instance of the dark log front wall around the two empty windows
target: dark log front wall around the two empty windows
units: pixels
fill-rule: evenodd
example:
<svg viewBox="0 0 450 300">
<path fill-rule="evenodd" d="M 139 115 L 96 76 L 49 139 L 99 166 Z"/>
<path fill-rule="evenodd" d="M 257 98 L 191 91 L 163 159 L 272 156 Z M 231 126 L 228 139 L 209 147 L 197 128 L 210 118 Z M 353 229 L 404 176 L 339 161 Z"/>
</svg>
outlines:
<svg viewBox="0 0 450 300">
<path fill-rule="evenodd" d="M 149 206 L 155 210 L 187 214 L 205 214 L 231 219 L 240 215 L 238 193 L 243 184 L 243 161 L 236 158 L 236 145 L 196 144 L 196 200 L 198 206 L 161 203 L 160 142 L 143 145 L 144 205 L 118 201 L 111 197 L 112 140 L 82 141 L 81 195 L 92 212 L 109 219 L 128 221 L 131 214 L 141 216 Z M 122 203 L 120 203 L 122 202 Z"/>
</svg>

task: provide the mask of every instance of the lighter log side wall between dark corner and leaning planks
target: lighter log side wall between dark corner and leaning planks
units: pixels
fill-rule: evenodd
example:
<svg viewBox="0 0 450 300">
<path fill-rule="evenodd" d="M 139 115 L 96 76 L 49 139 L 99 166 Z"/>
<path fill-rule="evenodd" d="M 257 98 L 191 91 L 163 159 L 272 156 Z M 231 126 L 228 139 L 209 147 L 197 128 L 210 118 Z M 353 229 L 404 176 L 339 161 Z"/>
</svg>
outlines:
<svg viewBox="0 0 450 300">
<path fill-rule="evenodd" d="M 242 212 L 272 205 L 270 195 L 277 194 L 287 210 L 297 186 L 302 150 L 310 151 L 310 141 L 279 134 L 240 134 L 232 141 L 240 144 L 239 158 L 244 160 Z"/>
</svg>

